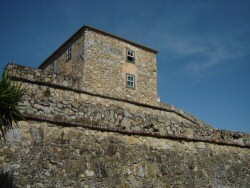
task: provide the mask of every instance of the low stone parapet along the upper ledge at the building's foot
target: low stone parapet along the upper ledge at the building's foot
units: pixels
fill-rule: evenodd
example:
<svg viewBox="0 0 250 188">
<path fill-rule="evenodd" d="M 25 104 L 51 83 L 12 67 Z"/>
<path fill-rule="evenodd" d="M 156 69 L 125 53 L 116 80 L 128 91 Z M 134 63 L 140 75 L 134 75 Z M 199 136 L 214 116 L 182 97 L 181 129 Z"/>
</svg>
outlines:
<svg viewBox="0 0 250 188">
<path fill-rule="evenodd" d="M 137 106 L 144 106 L 151 109 L 159 109 L 163 111 L 173 112 L 174 114 L 178 114 L 185 119 L 194 122 L 195 124 L 204 124 L 198 118 L 194 117 L 192 114 L 185 112 L 181 109 L 177 109 L 173 105 L 164 104 L 157 102 L 155 105 L 148 105 L 145 103 L 139 103 L 134 100 L 128 100 L 124 98 L 119 98 L 116 95 L 113 95 L 113 92 L 109 92 L 108 94 L 103 93 L 93 93 L 88 88 L 83 88 L 81 80 L 75 78 L 74 76 L 64 76 L 62 74 L 53 74 L 51 72 L 42 71 L 40 69 L 34 69 L 31 67 L 9 64 L 6 67 L 6 71 L 9 75 L 12 76 L 14 80 L 34 83 L 41 86 L 48 86 L 52 88 L 59 88 L 65 91 L 74 91 L 76 93 L 88 94 L 91 96 L 98 96 L 105 99 L 112 99 L 113 101 L 123 101 L 129 104 L 135 104 Z"/>
</svg>

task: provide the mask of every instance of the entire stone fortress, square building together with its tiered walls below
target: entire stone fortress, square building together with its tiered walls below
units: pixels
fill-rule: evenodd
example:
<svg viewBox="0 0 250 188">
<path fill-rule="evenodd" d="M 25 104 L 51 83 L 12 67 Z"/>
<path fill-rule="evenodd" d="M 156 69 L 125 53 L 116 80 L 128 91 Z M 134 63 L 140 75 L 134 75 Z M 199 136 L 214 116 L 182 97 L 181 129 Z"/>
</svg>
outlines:
<svg viewBox="0 0 250 188">
<path fill-rule="evenodd" d="M 250 135 L 158 100 L 157 51 L 83 26 L 25 88 L 0 166 L 19 187 L 250 187 Z M 237 125 L 236 125 L 237 126 Z"/>
</svg>

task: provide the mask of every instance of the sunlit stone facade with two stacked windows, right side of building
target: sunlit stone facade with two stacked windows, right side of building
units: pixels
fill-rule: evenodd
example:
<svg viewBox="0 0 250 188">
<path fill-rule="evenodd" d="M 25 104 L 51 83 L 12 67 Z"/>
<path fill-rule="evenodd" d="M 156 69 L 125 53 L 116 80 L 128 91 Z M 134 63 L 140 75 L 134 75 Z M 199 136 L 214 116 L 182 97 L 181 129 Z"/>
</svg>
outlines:
<svg viewBox="0 0 250 188">
<path fill-rule="evenodd" d="M 146 104 L 157 103 L 155 53 L 91 30 L 85 31 L 85 41 L 84 88 Z M 126 61 L 127 48 L 135 52 L 135 63 Z M 126 74 L 135 76 L 134 89 L 127 87 Z"/>
</svg>

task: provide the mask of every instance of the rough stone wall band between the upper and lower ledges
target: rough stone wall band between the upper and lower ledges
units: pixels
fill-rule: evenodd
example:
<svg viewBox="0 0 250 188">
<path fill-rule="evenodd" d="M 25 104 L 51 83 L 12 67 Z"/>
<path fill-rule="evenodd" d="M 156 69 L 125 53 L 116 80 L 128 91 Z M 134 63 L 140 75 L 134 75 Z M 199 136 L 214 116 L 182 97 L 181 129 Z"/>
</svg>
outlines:
<svg viewBox="0 0 250 188">
<path fill-rule="evenodd" d="M 58 122 L 80 123 L 102 126 L 114 130 L 141 131 L 160 136 L 177 136 L 201 141 L 217 141 L 241 146 L 250 145 L 250 135 L 239 132 L 217 130 L 191 116 L 180 116 L 175 113 L 142 107 L 135 104 L 94 97 L 84 93 L 50 88 L 50 97 L 44 96 L 47 86 L 23 83 L 26 94 L 22 111 L 26 116 L 43 117 Z M 35 101 L 35 103 L 34 103 Z M 182 110 L 179 110 L 182 111 Z M 184 112 L 182 111 L 182 114 Z M 81 125 L 79 125 L 81 126 Z M 37 138 L 37 137 L 35 137 Z M 38 138 L 37 138 L 38 139 Z M 39 139 L 37 142 L 40 142 Z"/>
</svg>

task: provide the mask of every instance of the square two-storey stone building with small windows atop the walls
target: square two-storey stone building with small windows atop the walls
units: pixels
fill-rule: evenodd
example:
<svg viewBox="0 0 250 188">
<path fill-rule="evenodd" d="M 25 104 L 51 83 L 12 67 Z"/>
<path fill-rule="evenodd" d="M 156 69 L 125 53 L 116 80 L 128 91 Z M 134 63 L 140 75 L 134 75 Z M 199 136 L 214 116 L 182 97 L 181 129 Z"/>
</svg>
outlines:
<svg viewBox="0 0 250 188">
<path fill-rule="evenodd" d="M 156 104 L 157 51 L 113 34 L 83 26 L 39 68 L 73 76 L 81 89 Z"/>
</svg>

